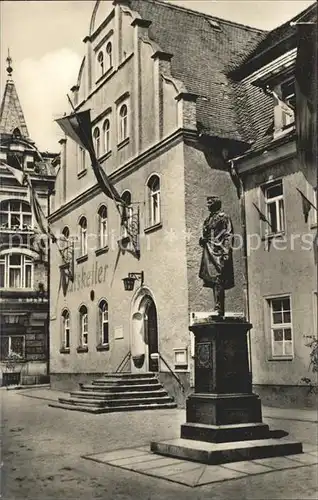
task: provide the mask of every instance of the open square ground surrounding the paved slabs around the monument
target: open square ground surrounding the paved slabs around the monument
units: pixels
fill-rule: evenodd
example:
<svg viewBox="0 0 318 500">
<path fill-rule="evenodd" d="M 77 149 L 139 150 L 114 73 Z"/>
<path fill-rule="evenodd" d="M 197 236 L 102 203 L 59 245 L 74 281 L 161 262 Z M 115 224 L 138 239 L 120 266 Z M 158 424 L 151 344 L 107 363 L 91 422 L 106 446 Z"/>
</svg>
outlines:
<svg viewBox="0 0 318 500">
<path fill-rule="evenodd" d="M 299 468 L 190 488 L 85 460 L 83 455 L 147 446 L 151 440 L 178 437 L 185 411 L 90 415 L 49 408 L 47 400 L 25 397 L 23 392 L 0 391 L 1 490 L 5 500 L 317 498 L 315 465 L 302 464 Z M 288 431 L 291 438 L 301 440 L 305 447 L 317 442 L 317 424 L 313 421 L 277 417 L 265 421 L 271 428 Z"/>
</svg>

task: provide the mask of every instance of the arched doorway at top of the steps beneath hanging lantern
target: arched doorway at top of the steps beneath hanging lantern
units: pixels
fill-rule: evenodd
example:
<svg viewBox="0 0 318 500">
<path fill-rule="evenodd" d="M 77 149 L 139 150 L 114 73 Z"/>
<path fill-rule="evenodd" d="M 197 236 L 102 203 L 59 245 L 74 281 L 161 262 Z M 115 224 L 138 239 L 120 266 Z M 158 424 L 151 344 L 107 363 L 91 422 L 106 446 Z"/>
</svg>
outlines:
<svg viewBox="0 0 318 500">
<path fill-rule="evenodd" d="M 158 371 L 158 315 L 153 294 L 148 288 L 138 290 L 132 303 L 131 315 L 132 371 Z"/>
</svg>

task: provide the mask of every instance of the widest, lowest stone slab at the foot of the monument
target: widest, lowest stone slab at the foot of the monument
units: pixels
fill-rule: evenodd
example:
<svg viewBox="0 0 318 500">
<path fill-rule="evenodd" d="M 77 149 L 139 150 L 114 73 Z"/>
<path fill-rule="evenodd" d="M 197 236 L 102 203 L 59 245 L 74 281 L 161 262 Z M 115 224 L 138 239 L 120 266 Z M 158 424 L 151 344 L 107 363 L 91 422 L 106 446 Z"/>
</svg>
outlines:
<svg viewBox="0 0 318 500">
<path fill-rule="evenodd" d="M 260 439 L 226 443 L 207 443 L 190 439 L 172 439 L 150 444 L 152 452 L 182 460 L 217 465 L 258 458 L 302 453 L 302 444 L 283 439 Z"/>
</svg>

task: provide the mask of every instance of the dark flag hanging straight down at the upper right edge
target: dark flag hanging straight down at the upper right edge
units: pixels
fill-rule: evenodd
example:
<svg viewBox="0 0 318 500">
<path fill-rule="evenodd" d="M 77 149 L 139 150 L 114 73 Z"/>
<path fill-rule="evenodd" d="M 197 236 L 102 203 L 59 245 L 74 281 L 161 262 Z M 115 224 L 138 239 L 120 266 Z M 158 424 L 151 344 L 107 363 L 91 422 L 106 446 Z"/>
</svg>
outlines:
<svg viewBox="0 0 318 500">
<path fill-rule="evenodd" d="M 299 23 L 295 67 L 297 152 L 302 165 L 317 164 L 317 26 Z"/>
</svg>

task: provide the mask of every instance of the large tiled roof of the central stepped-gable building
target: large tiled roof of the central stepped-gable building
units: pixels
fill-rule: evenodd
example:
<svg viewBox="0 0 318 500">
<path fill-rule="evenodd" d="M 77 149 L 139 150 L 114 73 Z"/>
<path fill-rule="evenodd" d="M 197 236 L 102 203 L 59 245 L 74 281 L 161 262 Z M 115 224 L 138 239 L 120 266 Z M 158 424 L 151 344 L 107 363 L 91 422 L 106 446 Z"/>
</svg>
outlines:
<svg viewBox="0 0 318 500">
<path fill-rule="evenodd" d="M 228 73 L 251 53 L 266 32 L 160 0 L 131 0 L 129 6 L 151 21 L 149 37 L 173 54 L 172 76 L 197 94 L 198 126 L 209 135 L 249 143 L 257 134 L 244 110 L 247 88 Z M 259 94 L 259 92 L 258 92 Z M 268 101 L 258 95 L 258 101 Z"/>
</svg>

